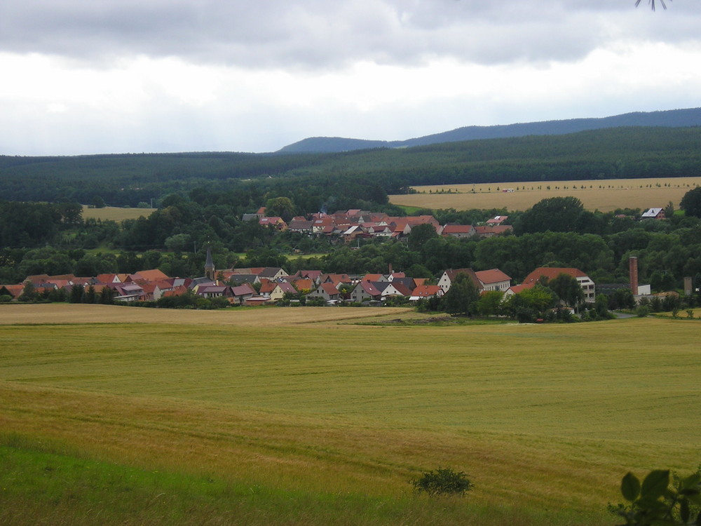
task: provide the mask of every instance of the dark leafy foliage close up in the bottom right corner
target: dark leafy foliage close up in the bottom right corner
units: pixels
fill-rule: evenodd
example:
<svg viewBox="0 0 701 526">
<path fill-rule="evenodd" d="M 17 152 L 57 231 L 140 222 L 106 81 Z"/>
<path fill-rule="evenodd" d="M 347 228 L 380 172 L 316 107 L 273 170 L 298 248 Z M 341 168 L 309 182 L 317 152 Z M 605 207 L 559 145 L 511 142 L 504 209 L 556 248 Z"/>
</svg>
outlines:
<svg viewBox="0 0 701 526">
<path fill-rule="evenodd" d="M 674 476 L 671 486 L 668 470 L 651 471 L 642 484 L 627 473 L 620 492 L 629 504 L 609 509 L 625 519 L 621 526 L 701 524 L 701 468 L 686 478 Z"/>
</svg>

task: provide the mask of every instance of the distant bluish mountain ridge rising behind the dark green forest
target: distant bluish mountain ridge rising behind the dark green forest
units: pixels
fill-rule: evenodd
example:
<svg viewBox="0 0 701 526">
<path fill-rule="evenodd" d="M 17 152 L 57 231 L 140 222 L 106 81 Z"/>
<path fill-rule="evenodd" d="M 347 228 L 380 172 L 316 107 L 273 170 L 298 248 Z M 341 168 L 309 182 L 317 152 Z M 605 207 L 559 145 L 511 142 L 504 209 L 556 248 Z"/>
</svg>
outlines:
<svg viewBox="0 0 701 526">
<path fill-rule="evenodd" d="M 455 130 L 425 135 L 401 141 L 350 139 L 345 137 L 308 137 L 288 144 L 276 153 L 334 153 L 371 148 L 408 148 L 479 139 L 503 139 L 526 135 L 564 135 L 585 130 L 621 128 L 624 126 L 665 126 L 686 128 L 701 126 L 701 108 L 669 109 L 661 112 L 633 112 L 597 119 L 566 119 L 563 121 L 541 121 L 497 126 L 465 126 Z"/>
</svg>

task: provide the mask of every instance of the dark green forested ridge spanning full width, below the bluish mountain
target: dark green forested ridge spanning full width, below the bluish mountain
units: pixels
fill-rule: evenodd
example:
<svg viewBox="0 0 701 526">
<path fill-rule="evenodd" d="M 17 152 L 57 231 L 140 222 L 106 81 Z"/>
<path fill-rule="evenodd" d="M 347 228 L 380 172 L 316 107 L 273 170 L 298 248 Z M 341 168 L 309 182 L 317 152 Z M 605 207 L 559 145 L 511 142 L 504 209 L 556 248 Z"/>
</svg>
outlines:
<svg viewBox="0 0 701 526">
<path fill-rule="evenodd" d="M 348 196 L 383 203 L 384 194 L 417 184 L 699 176 L 700 152 L 701 128 L 632 127 L 339 154 L 5 156 L 0 195 L 80 203 L 99 196 L 109 205 L 136 206 L 197 187 L 254 196 L 292 192 L 301 212 L 311 213 L 329 201 L 351 208 Z"/>
</svg>

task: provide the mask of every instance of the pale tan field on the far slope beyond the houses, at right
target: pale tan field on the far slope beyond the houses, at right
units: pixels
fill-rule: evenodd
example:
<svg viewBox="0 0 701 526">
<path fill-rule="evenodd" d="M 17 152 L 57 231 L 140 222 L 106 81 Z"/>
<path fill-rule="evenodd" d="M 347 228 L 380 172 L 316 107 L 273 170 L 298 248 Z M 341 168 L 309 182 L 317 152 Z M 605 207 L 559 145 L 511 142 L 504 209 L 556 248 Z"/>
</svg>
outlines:
<svg viewBox="0 0 701 526">
<path fill-rule="evenodd" d="M 658 186 L 659 184 L 659 186 Z M 611 212 L 616 208 L 664 208 L 669 201 L 679 208 L 687 191 L 701 184 L 701 177 L 669 179 L 612 179 L 590 181 L 504 182 L 497 184 L 447 184 L 414 187 L 418 194 L 390 196 L 390 203 L 416 208 L 506 208 L 526 210 L 541 199 L 575 196 L 587 210 Z M 547 187 L 550 189 L 547 189 Z M 515 189 L 503 192 L 505 188 Z M 516 190 L 518 189 L 518 190 Z M 451 194 L 437 192 L 451 191 Z M 429 193 L 429 191 L 431 193 Z"/>
</svg>

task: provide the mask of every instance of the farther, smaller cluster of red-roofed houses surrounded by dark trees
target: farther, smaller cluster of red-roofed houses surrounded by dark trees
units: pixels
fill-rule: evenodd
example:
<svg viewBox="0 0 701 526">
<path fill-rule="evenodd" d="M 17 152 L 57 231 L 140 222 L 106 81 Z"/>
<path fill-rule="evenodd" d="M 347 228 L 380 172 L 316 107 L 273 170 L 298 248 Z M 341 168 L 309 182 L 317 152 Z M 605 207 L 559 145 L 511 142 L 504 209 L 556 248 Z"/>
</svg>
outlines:
<svg viewBox="0 0 701 526">
<path fill-rule="evenodd" d="M 496 216 L 486 224 L 473 227 L 471 224 L 441 225 L 433 215 L 411 217 L 393 217 L 382 212 L 367 210 L 341 210 L 333 214 L 316 213 L 311 217 L 293 217 L 285 222 L 282 217 L 268 217 L 266 208 L 261 207 L 254 214 L 244 214 L 245 221 L 258 221 L 259 224 L 278 231 L 292 231 L 302 234 L 340 236 L 349 243 L 356 238 L 404 238 L 411 234 L 411 229 L 419 224 L 432 225 L 440 236 L 469 238 L 471 236 L 491 237 L 511 231 L 512 226 L 505 224 L 508 216 Z"/>
</svg>

